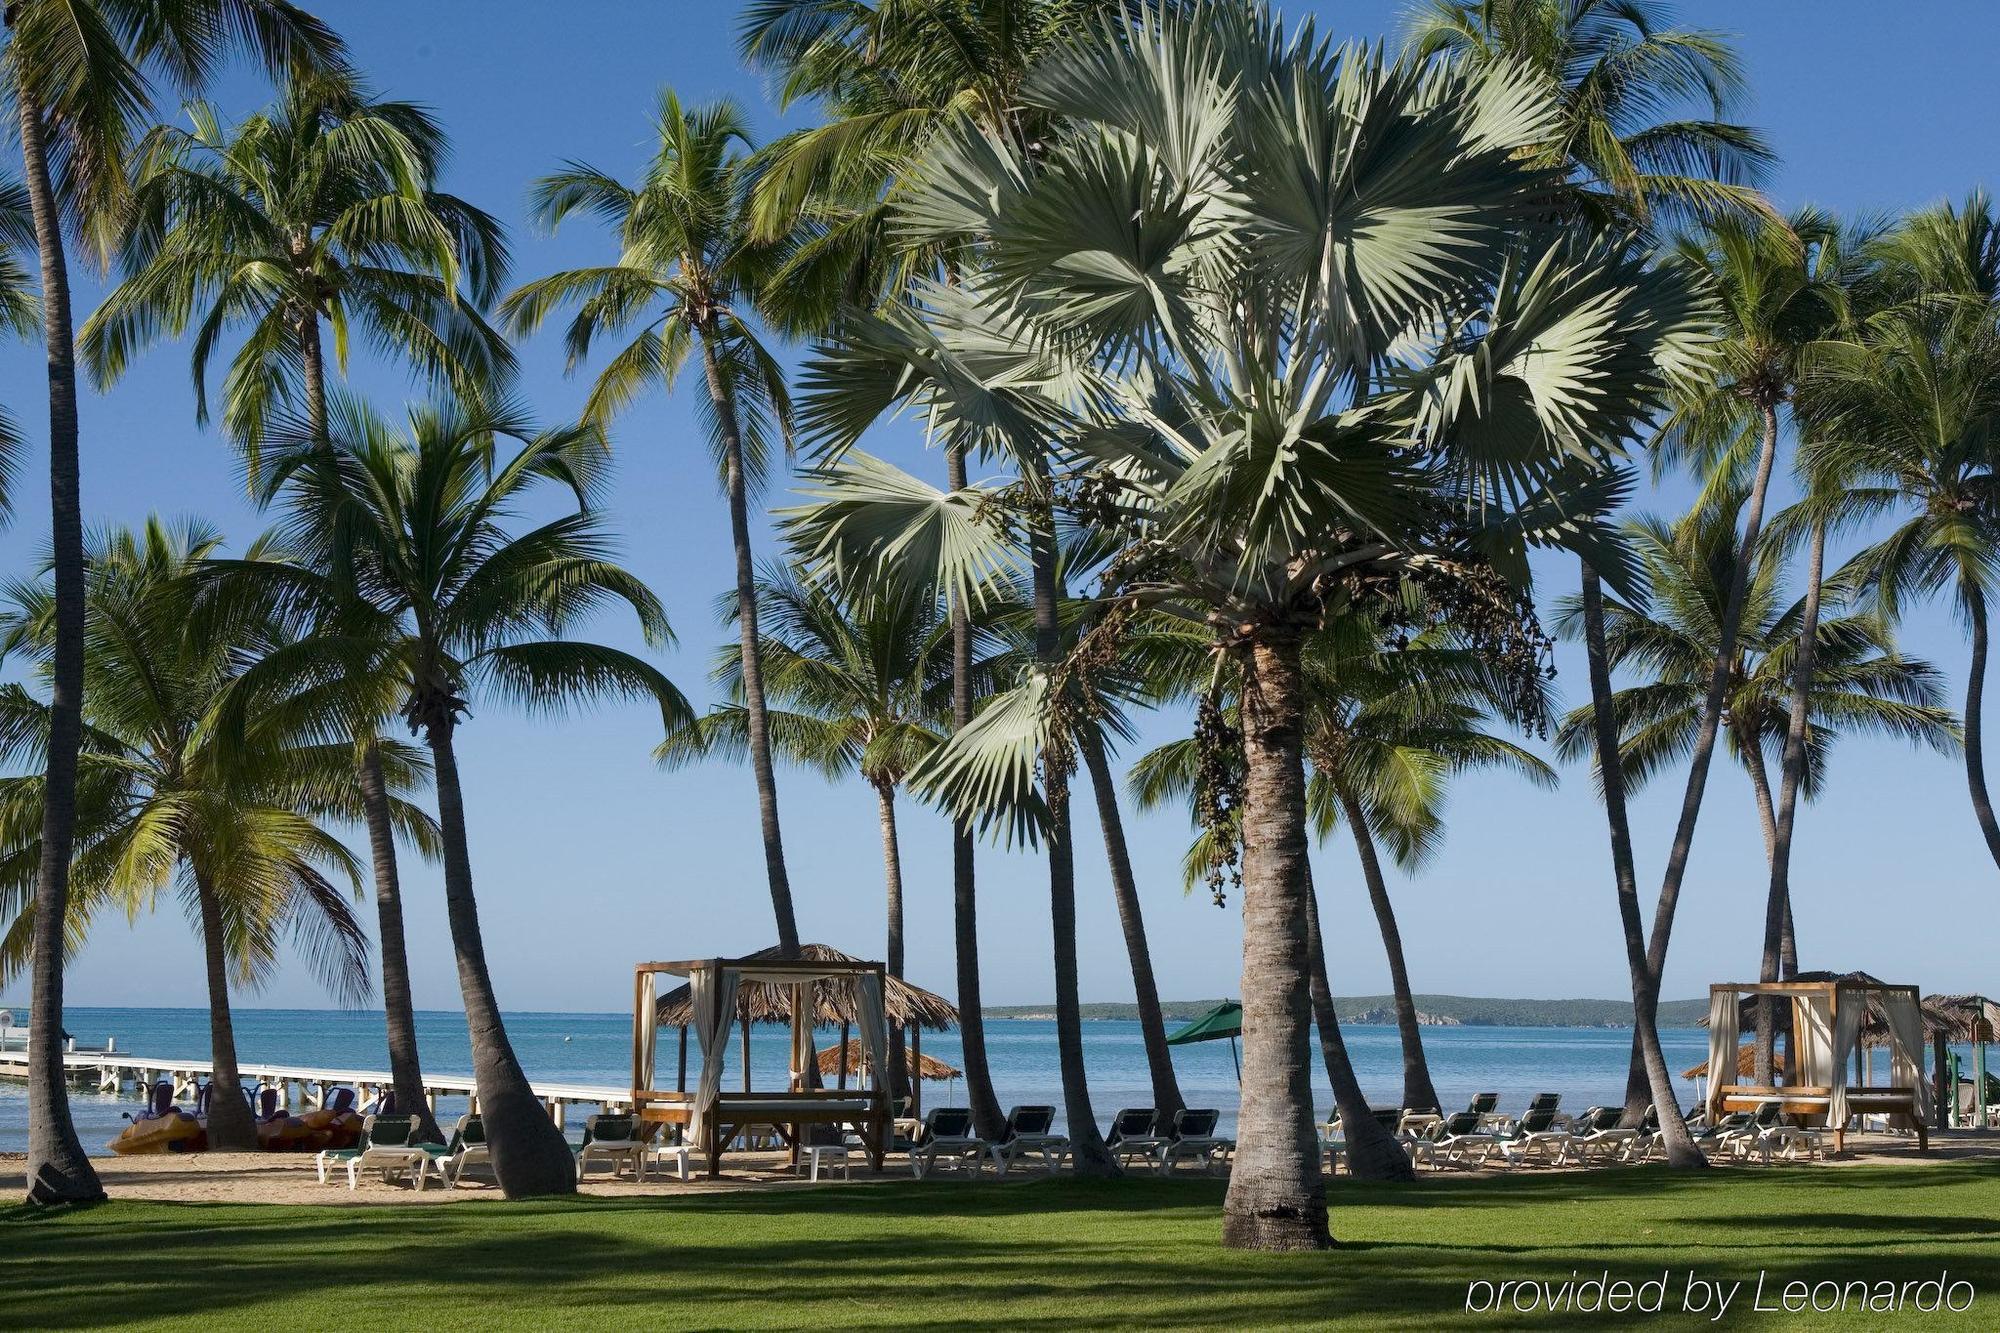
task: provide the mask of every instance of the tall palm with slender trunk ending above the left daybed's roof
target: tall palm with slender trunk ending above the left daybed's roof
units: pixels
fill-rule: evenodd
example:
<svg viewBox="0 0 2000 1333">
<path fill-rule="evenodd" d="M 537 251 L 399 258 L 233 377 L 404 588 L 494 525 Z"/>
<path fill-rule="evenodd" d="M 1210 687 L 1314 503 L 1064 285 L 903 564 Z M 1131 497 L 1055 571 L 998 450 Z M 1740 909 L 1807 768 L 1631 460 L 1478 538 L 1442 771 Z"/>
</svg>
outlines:
<svg viewBox="0 0 2000 1333">
<path fill-rule="evenodd" d="M 660 94 L 658 152 L 634 188 L 572 162 L 534 186 L 536 220 L 548 228 L 588 212 L 618 230 L 618 260 L 538 278 L 506 298 L 502 312 L 532 332 L 558 306 L 576 306 L 566 348 L 570 370 L 602 334 L 638 334 L 606 362 L 590 388 L 584 420 L 604 426 L 648 386 L 672 390 L 690 352 L 708 388 L 708 434 L 730 506 L 736 550 L 736 620 L 742 644 L 744 723 L 756 779 L 764 873 L 778 923 L 778 949 L 798 953 L 792 881 L 778 829 L 764 660 L 758 652 L 756 560 L 750 492 L 762 486 L 778 428 L 790 440 L 792 404 L 784 370 L 756 328 L 756 302 L 774 252 L 752 238 L 748 218 L 750 132 L 728 100 L 682 106 Z"/>
</svg>

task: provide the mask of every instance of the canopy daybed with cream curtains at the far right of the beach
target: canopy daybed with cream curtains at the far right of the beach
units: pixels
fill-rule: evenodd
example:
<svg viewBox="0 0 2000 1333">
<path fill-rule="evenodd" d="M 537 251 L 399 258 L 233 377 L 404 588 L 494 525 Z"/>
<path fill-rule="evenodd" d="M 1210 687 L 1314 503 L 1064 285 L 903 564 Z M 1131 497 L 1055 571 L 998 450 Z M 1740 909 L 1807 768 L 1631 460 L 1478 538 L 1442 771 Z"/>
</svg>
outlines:
<svg viewBox="0 0 2000 1333">
<path fill-rule="evenodd" d="M 1796 1077 L 1782 1085 L 1746 1083 L 1738 1069 L 1736 1043 L 1752 1005 L 1790 1009 L 1790 1051 Z M 1860 1047 L 1870 1015 L 1882 1023 L 1890 1051 L 1890 1081 L 1868 1087 L 1848 1081 L 1848 1067 Z M 1898 987 L 1866 975 L 1826 981 L 1766 981 L 1708 987 L 1708 1115 L 1754 1111 L 1778 1099 L 1786 1115 L 1834 1131 L 1834 1147 L 1846 1147 L 1848 1121 L 1856 1115 L 1886 1115 L 1896 1129 L 1912 1129 L 1918 1147 L 1930 1149 L 1930 1085 L 1924 1081 L 1926 1027 L 1916 987 Z"/>
</svg>

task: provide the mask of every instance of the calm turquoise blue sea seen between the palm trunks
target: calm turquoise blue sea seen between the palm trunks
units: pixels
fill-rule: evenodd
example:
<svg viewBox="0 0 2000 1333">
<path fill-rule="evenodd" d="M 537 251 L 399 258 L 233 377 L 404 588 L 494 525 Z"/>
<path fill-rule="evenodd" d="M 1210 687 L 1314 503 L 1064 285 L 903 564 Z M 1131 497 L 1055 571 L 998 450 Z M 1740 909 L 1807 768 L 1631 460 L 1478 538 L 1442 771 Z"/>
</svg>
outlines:
<svg viewBox="0 0 2000 1333">
<path fill-rule="evenodd" d="M 416 1015 L 424 1069 L 470 1073 L 472 1049 L 458 1013 Z M 120 1051 L 168 1059 L 208 1057 L 208 1013 L 204 1009 L 70 1009 L 64 1027 L 80 1045 L 118 1039 Z M 1346 1027 L 1348 1055 L 1362 1089 L 1378 1105 L 1402 1097 L 1402 1055 L 1392 1027 Z M 516 1013 L 508 1015 L 508 1035 L 530 1079 L 624 1087 L 630 1081 L 632 1019 L 622 1013 Z M 1664 1031 L 1668 1063 L 1678 1073 L 1708 1057 L 1702 1029 Z M 824 1033 L 820 1045 L 832 1045 Z M 236 1051 L 246 1063 L 306 1065 L 324 1069 L 388 1069 L 380 1013 L 328 1009 L 238 1009 Z M 1428 1027 L 1424 1049 L 1432 1079 L 1444 1103 L 1462 1107 L 1474 1093 L 1498 1091 L 1502 1107 L 1520 1107 L 1542 1091 L 1562 1093 L 1562 1105 L 1582 1109 L 1618 1101 L 1624 1095 L 1626 1029 L 1566 1027 Z M 752 1079 L 756 1087 L 782 1087 L 784 1035 L 754 1029 Z M 1052 1103 L 1062 1109 L 1056 1071 L 1056 1025 L 1034 1019 L 988 1019 L 988 1059 L 1002 1105 Z M 1150 1103 L 1146 1053 L 1138 1023 L 1084 1023 L 1084 1051 L 1090 1067 L 1090 1101 L 1100 1123 L 1120 1107 Z M 730 1051 L 736 1055 L 734 1043 Z M 924 1055 L 958 1065 L 956 1033 L 926 1033 Z M 698 1059 L 698 1057 L 694 1057 Z M 660 1073 L 672 1077 L 674 1039 L 662 1033 Z M 1176 1047 L 1174 1067 L 1188 1105 L 1218 1107 L 1226 1121 L 1236 1113 L 1236 1073 L 1228 1041 Z M 690 1075 L 692 1077 L 692 1075 Z M 728 1087 L 738 1087 L 732 1069 Z M 1332 1105 L 1324 1071 L 1314 1049 L 1314 1087 L 1320 1109 Z M 964 1101 L 962 1083 L 926 1087 L 926 1105 Z M 1694 1085 L 1682 1085 L 1682 1103 L 1694 1099 Z M 84 1143 L 94 1153 L 120 1131 L 124 1111 L 138 1099 L 74 1093 L 72 1109 Z M 454 1111 L 454 1107 L 444 1107 Z M 572 1123 L 574 1129 L 574 1123 Z M 26 1089 L 0 1083 L 0 1151 L 26 1147 Z"/>
</svg>

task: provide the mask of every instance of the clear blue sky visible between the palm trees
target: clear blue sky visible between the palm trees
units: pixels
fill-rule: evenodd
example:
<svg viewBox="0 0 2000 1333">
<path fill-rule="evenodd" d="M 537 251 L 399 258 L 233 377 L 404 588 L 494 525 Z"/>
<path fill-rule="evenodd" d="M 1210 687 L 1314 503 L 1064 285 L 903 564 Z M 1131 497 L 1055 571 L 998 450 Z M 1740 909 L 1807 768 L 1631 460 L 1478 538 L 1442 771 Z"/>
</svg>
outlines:
<svg viewBox="0 0 2000 1333">
<path fill-rule="evenodd" d="M 358 62 L 384 90 L 430 102 L 458 152 L 448 186 L 514 224 L 516 276 L 596 262 L 608 252 L 588 226 L 560 238 L 522 226 L 528 180 L 562 158 L 630 174 L 646 154 L 656 90 L 734 96 L 762 132 L 782 126 L 758 78 L 734 50 L 736 6 L 724 2 L 568 6 L 526 0 L 342 0 L 322 4 Z M 1288 6 L 1294 8 L 1296 6 Z M 1402 4 L 1314 6 L 1328 30 L 1392 34 Z M 1682 18 L 1740 34 L 1754 82 L 1746 116 L 1764 126 L 1784 164 L 1780 204 L 1894 210 L 1994 184 L 2000 122 L 1988 98 L 1996 24 L 1986 4 L 1936 0 L 1896 12 L 1858 0 L 1684 4 Z M 266 92 L 248 78 L 218 94 L 230 116 Z M 96 288 L 78 290 L 88 312 Z M 522 348 L 522 390 L 548 420 L 576 410 L 560 346 Z M 46 476 L 38 350 L 0 348 L 0 394 L 32 432 L 20 518 L 0 534 L 0 568 L 20 572 L 46 540 Z M 354 384 L 394 404 L 406 382 L 356 362 Z M 84 504 L 94 520 L 132 522 L 148 510 L 200 512 L 248 538 L 260 520 L 242 500 L 232 456 L 194 424 L 184 348 L 166 346 L 110 394 L 84 398 Z M 686 400 L 648 398 L 616 436 L 614 512 L 626 560 L 666 598 L 680 648 L 664 664 L 704 697 L 722 638 L 712 612 L 728 582 L 728 526 L 706 448 Z M 904 456 L 900 440 L 882 448 Z M 904 456 L 942 472 L 936 460 Z M 926 472 L 926 474 L 928 474 Z M 774 498 L 784 486 L 774 486 Z M 1642 502 L 1672 508 L 1684 488 Z M 1562 570 L 1548 570 L 1560 576 Z M 1568 586 L 1550 582 L 1544 602 Z M 608 628 L 612 636 L 624 630 Z M 1964 644 L 1944 612 L 1920 614 L 1906 648 L 1942 664 L 1954 693 Z M 1582 662 L 1558 656 L 1560 689 L 1582 689 Z M 510 1009 L 620 1009 L 632 961 L 756 949 L 772 941 L 770 905 L 746 771 L 666 775 L 652 767 L 658 721 L 602 711 L 564 723 L 480 709 L 460 733 L 472 859 L 486 951 Z M 1182 727 L 1154 719 L 1146 741 Z M 1676 783 L 1634 809 L 1648 903 Z M 828 787 L 780 773 L 780 803 L 800 931 L 850 953 L 882 953 L 882 877 L 874 799 L 858 783 Z M 1234 995 L 1238 917 L 1206 895 L 1182 897 L 1180 817 L 1128 813 L 1152 955 L 1168 997 Z M 1396 879 L 1410 971 L 1420 991 L 1466 995 L 1624 995 L 1626 967 L 1610 897 L 1604 823 L 1588 775 L 1564 773 L 1558 793 L 1516 779 L 1462 783 L 1450 841 L 1418 877 Z M 1980 845 L 1956 763 L 1886 743 L 1848 743 L 1832 791 L 1802 815 L 1794 869 L 1806 967 L 1862 967 L 1926 991 L 2000 985 L 1992 933 L 2000 887 Z M 904 811 L 910 975 L 950 993 L 950 845 L 926 811 Z M 1110 907 L 1094 823 L 1078 819 L 1082 993 L 1130 999 L 1130 973 Z M 1352 847 L 1318 853 L 1318 881 L 1338 993 L 1384 991 L 1386 971 Z M 406 861 L 410 953 L 422 1007 L 458 1007 L 438 875 Z M 1762 847 L 1742 775 L 1718 763 L 1700 845 L 1674 933 L 1668 995 L 1754 975 L 1762 923 Z M 982 951 L 990 1003 L 1052 995 L 1048 883 L 1032 857 L 984 853 Z M 372 921 L 374 907 L 360 907 Z M 128 929 L 106 919 L 70 973 L 78 1005 L 198 1005 L 200 955 L 180 907 L 162 899 Z M 18 999 L 24 987 L 12 987 Z M 252 1005 L 320 1005 L 290 967 Z"/>
</svg>

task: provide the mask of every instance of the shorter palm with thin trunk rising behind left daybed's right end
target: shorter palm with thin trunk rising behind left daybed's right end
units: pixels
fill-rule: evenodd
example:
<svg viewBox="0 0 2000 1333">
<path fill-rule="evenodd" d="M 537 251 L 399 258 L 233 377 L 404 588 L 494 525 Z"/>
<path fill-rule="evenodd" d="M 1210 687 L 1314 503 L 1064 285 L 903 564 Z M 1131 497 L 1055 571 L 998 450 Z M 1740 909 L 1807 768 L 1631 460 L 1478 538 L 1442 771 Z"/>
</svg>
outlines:
<svg viewBox="0 0 2000 1333">
<path fill-rule="evenodd" d="M 856 600 L 800 582 L 790 570 L 758 578 L 760 644 L 770 691 L 772 745 L 828 779 L 858 773 L 874 789 L 882 825 L 890 977 L 902 977 L 902 845 L 896 793 L 910 771 L 944 745 L 948 620 L 936 596 L 882 590 Z M 734 602 L 732 602 L 734 610 Z M 742 759 L 750 719 L 742 705 L 742 648 L 722 654 L 716 677 L 730 703 L 668 735 L 654 755 L 666 767 L 698 759 Z M 902 1031 L 892 1033 L 888 1079 L 904 1079 Z"/>
</svg>

